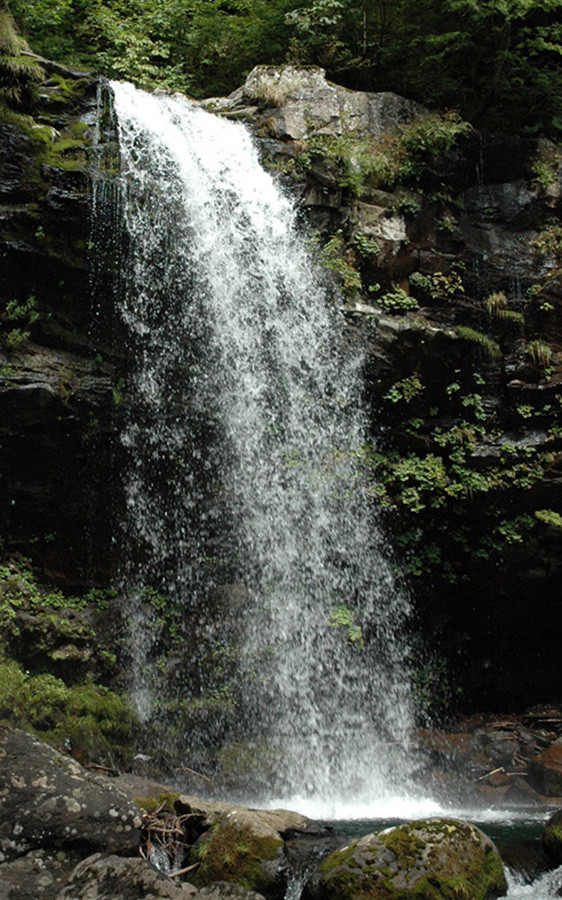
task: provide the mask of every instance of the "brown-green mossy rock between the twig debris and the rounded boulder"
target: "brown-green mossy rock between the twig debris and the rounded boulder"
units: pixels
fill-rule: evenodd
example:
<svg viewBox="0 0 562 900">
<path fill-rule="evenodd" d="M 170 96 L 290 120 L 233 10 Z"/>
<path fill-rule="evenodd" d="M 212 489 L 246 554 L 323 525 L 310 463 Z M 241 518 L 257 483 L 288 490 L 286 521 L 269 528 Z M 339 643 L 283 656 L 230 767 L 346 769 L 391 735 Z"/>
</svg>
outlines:
<svg viewBox="0 0 562 900">
<path fill-rule="evenodd" d="M 195 844 L 191 862 L 199 862 L 197 887 L 230 881 L 265 897 L 279 895 L 279 864 L 283 841 L 275 829 L 252 812 L 227 813 Z"/>
</svg>

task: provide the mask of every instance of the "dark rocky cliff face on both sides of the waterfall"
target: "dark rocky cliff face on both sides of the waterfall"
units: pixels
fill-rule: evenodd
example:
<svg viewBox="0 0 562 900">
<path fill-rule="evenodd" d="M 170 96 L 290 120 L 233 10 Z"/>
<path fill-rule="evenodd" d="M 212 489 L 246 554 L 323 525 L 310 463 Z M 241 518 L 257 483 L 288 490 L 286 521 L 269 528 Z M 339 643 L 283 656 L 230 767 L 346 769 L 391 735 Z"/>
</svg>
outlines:
<svg viewBox="0 0 562 900">
<path fill-rule="evenodd" d="M 80 587 L 107 584 L 116 564 L 127 403 L 115 238 L 91 215 L 114 164 L 94 147 L 96 90 L 51 68 L 30 115 L 0 122 L 1 536 Z M 367 349 L 373 442 L 347 450 L 435 648 L 421 693 L 445 697 L 448 663 L 468 702 L 554 698 L 559 150 L 314 70 L 258 69 L 205 105 L 254 130 L 319 232 L 349 340 Z"/>
</svg>

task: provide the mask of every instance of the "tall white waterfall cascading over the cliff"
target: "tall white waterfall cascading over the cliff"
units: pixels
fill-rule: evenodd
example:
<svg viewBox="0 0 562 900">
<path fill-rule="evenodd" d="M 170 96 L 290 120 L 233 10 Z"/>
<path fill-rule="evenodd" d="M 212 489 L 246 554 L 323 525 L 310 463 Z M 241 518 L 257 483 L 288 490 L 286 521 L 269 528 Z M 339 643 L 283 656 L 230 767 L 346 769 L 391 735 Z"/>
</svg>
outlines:
<svg viewBox="0 0 562 900">
<path fill-rule="evenodd" d="M 139 711 L 156 721 L 175 697 L 185 765 L 214 760 L 246 797 L 389 796 L 411 726 L 409 604 L 357 465 L 362 353 L 249 132 L 112 87 Z M 183 663 L 152 658 L 147 592 L 184 623 Z"/>
</svg>

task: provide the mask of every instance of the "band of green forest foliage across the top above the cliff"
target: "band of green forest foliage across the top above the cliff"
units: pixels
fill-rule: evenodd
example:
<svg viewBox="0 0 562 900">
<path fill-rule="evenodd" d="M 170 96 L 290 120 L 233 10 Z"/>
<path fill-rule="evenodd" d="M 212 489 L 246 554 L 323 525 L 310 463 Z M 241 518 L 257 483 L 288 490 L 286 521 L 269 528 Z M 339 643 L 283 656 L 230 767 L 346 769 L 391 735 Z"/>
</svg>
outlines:
<svg viewBox="0 0 562 900">
<path fill-rule="evenodd" d="M 37 52 L 146 86 L 227 94 L 257 64 L 313 63 L 347 87 L 459 108 L 479 127 L 562 130 L 558 0 L 10 0 L 10 8 Z M 5 46 L 13 56 L 9 34 Z"/>
</svg>

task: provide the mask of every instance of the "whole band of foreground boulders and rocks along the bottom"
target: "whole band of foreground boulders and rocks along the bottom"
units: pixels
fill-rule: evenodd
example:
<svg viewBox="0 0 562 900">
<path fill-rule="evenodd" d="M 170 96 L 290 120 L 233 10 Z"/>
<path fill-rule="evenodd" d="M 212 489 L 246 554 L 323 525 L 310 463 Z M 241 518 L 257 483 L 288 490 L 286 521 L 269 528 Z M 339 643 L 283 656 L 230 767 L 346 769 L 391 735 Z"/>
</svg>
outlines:
<svg viewBox="0 0 562 900">
<path fill-rule="evenodd" d="M 0 727 L 0 819 L 6 900 L 280 900 L 295 877 L 309 900 L 450 900 L 459 891 L 465 900 L 492 900 L 507 887 L 492 841 L 458 819 L 345 844 L 299 813 L 92 774 L 7 726 Z M 558 819 L 545 835 L 554 862 Z"/>
</svg>

